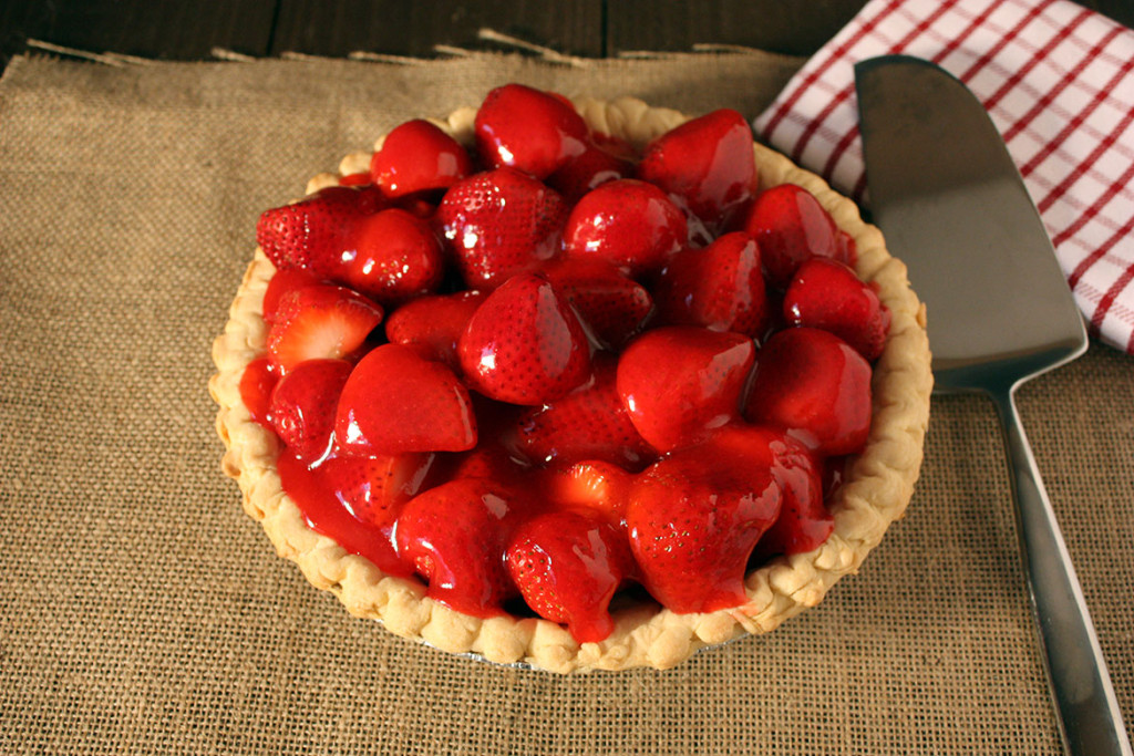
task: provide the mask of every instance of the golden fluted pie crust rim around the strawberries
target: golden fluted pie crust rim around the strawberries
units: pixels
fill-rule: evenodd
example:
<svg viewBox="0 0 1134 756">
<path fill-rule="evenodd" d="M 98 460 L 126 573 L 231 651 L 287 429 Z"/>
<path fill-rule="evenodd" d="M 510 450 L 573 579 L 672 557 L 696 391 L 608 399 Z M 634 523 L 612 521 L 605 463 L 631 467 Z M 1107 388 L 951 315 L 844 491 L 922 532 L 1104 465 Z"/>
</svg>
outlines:
<svg viewBox="0 0 1134 756">
<path fill-rule="evenodd" d="M 677 111 L 629 97 L 579 99 L 575 104 L 593 129 L 637 147 L 687 120 Z M 475 112 L 464 108 L 434 122 L 468 145 Z M 753 150 L 761 188 L 785 182 L 803 186 L 854 237 L 857 272 L 878 286 L 892 321 L 886 350 L 874 366 L 869 442 L 852 462 L 846 484 L 829 501 L 833 534 L 814 551 L 777 558 L 750 572 L 745 604 L 705 614 L 677 614 L 655 604 L 623 606 L 615 611 L 616 629 L 609 638 L 579 644 L 566 628 L 547 620 L 462 614 L 429 598 L 421 581 L 386 576 L 369 560 L 313 532 L 281 487 L 276 468 L 279 441 L 252 419 L 240 399 L 240 375 L 249 362 L 264 355 L 268 335 L 261 307 L 274 269 L 260 249 L 240 283 L 225 332 L 213 342 L 219 372 L 209 383 L 220 405 L 217 430 L 227 448 L 222 468 L 239 483 L 245 511 L 260 520 L 281 557 L 296 562 L 314 586 L 337 595 L 353 614 L 381 620 L 396 635 L 502 664 L 561 673 L 666 669 L 704 646 L 745 632 L 768 632 L 818 604 L 840 577 L 858 569 L 889 525 L 903 516 L 913 494 L 932 387 L 924 308 L 909 288 L 905 265 L 890 257 L 882 235 L 862 221 L 853 202 L 779 153 L 760 144 Z M 338 173 L 316 176 L 307 192 L 337 184 L 339 176 L 366 171 L 370 156 L 371 152 L 348 155 Z"/>
</svg>

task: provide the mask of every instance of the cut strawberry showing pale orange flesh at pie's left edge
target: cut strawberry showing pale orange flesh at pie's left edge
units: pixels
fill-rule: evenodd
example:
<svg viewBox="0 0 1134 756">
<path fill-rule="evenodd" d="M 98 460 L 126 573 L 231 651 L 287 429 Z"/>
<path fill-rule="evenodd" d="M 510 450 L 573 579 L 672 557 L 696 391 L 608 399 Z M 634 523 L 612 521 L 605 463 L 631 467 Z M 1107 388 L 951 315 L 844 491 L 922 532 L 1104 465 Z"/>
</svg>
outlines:
<svg viewBox="0 0 1134 756">
<path fill-rule="evenodd" d="M 305 359 L 350 357 L 382 322 L 382 308 L 350 289 L 319 284 L 280 297 L 268 355 L 284 372 Z"/>
</svg>

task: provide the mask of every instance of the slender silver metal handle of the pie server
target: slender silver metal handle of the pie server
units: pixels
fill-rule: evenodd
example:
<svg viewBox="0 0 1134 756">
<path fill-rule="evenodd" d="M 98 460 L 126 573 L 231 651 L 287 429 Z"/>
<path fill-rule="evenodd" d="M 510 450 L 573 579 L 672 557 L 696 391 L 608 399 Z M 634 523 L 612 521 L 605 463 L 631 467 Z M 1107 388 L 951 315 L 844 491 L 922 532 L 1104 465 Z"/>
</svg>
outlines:
<svg viewBox="0 0 1134 756">
<path fill-rule="evenodd" d="M 990 394 L 1004 426 L 1024 574 L 1064 746 L 1074 756 L 1132 756 L 1083 592 L 1019 423 L 1015 388 Z"/>
</svg>

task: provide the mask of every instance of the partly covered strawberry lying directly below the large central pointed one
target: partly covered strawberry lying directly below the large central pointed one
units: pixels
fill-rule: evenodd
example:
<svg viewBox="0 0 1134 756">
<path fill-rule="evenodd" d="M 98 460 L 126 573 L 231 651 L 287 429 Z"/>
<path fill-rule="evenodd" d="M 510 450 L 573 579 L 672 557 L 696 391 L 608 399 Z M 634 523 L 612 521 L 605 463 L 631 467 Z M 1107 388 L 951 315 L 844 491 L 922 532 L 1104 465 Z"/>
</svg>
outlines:
<svg viewBox="0 0 1134 756">
<path fill-rule="evenodd" d="M 594 379 L 572 393 L 519 416 L 516 448 L 541 465 L 599 459 L 641 469 L 652 457 L 615 387 L 613 357 L 596 359 Z M 651 460 L 652 461 L 652 460 Z"/>
</svg>

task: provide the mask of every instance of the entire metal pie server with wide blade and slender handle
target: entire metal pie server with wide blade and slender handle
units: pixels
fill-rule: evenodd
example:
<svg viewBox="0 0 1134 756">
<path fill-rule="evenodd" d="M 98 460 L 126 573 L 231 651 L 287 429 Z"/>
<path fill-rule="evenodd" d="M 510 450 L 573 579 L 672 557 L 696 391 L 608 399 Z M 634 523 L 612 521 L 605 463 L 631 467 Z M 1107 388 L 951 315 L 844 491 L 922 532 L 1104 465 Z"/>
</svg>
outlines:
<svg viewBox="0 0 1134 756">
<path fill-rule="evenodd" d="M 980 101 L 905 56 L 855 66 L 874 222 L 925 303 L 937 390 L 996 405 L 1024 572 L 1064 747 L 1131 754 L 1083 593 L 1016 411 L 1016 388 L 1086 350 L 1083 320 Z"/>
</svg>

